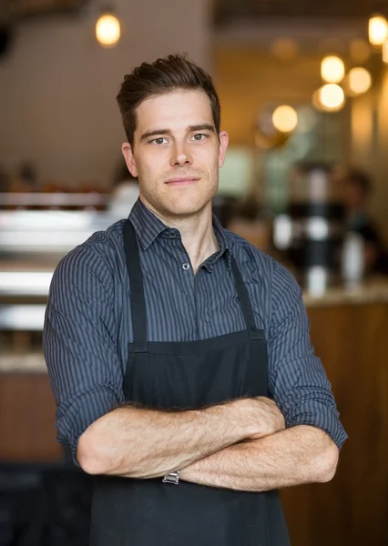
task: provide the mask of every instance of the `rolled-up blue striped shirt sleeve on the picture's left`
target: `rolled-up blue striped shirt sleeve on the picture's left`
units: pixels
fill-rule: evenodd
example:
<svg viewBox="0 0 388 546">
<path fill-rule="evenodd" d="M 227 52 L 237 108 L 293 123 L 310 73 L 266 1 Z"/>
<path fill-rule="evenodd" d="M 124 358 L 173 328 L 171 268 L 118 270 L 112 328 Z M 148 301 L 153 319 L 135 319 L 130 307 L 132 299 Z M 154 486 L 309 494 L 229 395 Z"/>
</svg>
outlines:
<svg viewBox="0 0 388 546">
<path fill-rule="evenodd" d="M 43 349 L 56 399 L 57 440 L 76 463 L 81 434 L 124 399 L 113 290 L 103 256 L 87 246 L 59 263 L 50 286 Z"/>
</svg>

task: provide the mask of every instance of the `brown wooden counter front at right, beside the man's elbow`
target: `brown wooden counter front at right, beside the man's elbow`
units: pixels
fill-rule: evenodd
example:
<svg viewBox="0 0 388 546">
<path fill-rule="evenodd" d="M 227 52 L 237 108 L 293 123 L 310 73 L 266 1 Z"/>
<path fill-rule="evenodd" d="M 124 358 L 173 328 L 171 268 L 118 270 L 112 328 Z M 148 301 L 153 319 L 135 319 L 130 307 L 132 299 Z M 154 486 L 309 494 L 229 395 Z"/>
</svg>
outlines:
<svg viewBox="0 0 388 546">
<path fill-rule="evenodd" d="M 281 495 L 295 546 L 388 544 L 388 304 L 308 308 L 349 439 L 334 480 Z"/>
</svg>

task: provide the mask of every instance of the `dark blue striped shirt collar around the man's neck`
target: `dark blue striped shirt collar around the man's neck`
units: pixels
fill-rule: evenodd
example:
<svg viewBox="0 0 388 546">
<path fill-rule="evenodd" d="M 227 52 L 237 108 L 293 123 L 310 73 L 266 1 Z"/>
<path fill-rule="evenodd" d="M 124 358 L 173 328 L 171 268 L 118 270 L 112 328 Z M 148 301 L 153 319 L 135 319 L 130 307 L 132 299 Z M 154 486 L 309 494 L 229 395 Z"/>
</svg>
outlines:
<svg viewBox="0 0 388 546">
<path fill-rule="evenodd" d="M 177 231 L 166 226 L 166 224 L 164 224 L 149 210 L 148 207 L 144 205 L 140 198 L 138 198 L 135 205 L 132 207 L 128 219 L 132 222 L 133 227 L 135 227 L 138 240 L 144 250 L 146 250 L 161 233 L 166 232 L 166 236 L 169 237 L 170 233 Z M 228 265 L 229 268 L 231 268 L 230 245 L 228 243 L 228 239 L 226 238 L 224 228 L 220 225 L 220 221 L 214 214 L 213 228 L 220 245 L 220 250 L 210 261 L 206 260 L 208 265 L 207 268 L 211 270 L 212 264 L 216 261 L 216 259 L 223 255 L 225 255 L 228 259 Z"/>
</svg>

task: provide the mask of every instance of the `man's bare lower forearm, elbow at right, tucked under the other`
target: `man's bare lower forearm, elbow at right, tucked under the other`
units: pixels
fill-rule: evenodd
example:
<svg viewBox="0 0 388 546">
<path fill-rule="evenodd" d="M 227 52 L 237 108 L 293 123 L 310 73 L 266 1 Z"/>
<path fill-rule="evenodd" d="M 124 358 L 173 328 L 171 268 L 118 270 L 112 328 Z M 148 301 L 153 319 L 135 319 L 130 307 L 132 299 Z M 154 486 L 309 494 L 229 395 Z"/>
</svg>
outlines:
<svg viewBox="0 0 388 546">
<path fill-rule="evenodd" d="M 273 490 L 331 480 L 337 460 L 329 436 L 299 426 L 220 450 L 189 465 L 180 478 L 231 490 Z"/>
</svg>

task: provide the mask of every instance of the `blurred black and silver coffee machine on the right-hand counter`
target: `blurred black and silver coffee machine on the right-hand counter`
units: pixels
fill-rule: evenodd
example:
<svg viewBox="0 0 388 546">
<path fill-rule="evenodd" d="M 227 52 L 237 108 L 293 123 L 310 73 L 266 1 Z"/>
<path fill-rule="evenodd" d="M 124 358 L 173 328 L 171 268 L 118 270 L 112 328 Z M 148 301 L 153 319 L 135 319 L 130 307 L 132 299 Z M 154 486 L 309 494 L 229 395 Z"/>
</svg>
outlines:
<svg viewBox="0 0 388 546">
<path fill-rule="evenodd" d="M 315 294 L 339 282 L 345 210 L 338 171 L 322 163 L 292 169 L 289 202 L 274 220 L 274 245 L 303 288 Z"/>
</svg>

